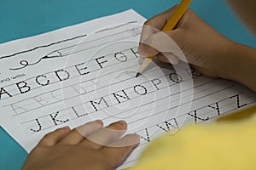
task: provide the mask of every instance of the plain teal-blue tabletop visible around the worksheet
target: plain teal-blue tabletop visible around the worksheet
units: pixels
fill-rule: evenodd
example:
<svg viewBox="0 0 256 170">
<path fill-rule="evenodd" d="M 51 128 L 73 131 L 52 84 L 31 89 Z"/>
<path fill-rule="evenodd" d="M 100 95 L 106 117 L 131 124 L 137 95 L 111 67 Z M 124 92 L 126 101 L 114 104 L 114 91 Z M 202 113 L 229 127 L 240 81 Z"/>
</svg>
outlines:
<svg viewBox="0 0 256 170">
<path fill-rule="evenodd" d="M 150 18 L 177 3 L 178 0 L 1 0 L 0 43 L 72 26 L 129 8 Z M 226 37 L 256 47 L 256 38 L 236 19 L 223 0 L 194 0 L 190 8 Z M 0 127 L 0 169 L 20 169 L 26 156 L 26 151 Z"/>
</svg>

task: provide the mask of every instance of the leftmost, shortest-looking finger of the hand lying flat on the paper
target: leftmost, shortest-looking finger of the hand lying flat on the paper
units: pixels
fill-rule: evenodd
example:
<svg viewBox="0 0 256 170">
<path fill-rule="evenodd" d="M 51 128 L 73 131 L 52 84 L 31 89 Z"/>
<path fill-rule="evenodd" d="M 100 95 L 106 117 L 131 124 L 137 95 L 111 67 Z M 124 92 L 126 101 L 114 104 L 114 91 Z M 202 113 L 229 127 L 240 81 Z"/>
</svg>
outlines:
<svg viewBox="0 0 256 170">
<path fill-rule="evenodd" d="M 61 139 L 63 139 L 69 132 L 69 127 L 58 128 L 54 132 L 46 134 L 38 143 L 38 146 L 53 146 L 58 144 L 59 141 L 61 141 Z"/>
</svg>

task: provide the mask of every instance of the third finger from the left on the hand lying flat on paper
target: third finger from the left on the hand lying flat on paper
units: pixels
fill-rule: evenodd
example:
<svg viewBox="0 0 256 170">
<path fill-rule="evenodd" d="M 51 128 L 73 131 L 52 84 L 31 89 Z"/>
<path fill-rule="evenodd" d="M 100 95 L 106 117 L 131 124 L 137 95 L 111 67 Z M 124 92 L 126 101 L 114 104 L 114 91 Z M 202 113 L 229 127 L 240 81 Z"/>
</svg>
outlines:
<svg viewBox="0 0 256 170">
<path fill-rule="evenodd" d="M 95 150 L 99 150 L 102 146 L 119 139 L 127 129 L 127 123 L 124 121 L 113 122 L 108 127 L 102 127 L 90 134 L 81 144 Z"/>
</svg>

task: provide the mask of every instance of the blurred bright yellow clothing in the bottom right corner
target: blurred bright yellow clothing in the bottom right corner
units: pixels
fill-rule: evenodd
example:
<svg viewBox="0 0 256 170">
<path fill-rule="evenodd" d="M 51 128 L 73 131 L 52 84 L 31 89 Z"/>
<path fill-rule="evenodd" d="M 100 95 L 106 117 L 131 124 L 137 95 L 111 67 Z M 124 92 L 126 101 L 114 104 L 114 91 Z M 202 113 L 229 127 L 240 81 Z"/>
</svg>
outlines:
<svg viewBox="0 0 256 170">
<path fill-rule="evenodd" d="M 154 140 L 132 168 L 143 169 L 256 169 L 256 106 Z"/>
</svg>

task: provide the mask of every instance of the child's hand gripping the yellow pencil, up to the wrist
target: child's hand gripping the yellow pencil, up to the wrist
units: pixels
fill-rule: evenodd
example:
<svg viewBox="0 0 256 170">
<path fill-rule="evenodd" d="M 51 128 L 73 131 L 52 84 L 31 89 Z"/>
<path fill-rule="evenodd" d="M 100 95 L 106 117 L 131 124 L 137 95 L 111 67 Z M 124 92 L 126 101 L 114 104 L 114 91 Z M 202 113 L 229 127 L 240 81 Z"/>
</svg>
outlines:
<svg viewBox="0 0 256 170">
<path fill-rule="evenodd" d="M 175 55 L 176 52 L 173 54 L 175 49 L 166 45 L 170 42 L 162 37 L 163 33 L 160 31 L 172 16 L 175 8 L 173 7 L 145 22 L 139 54 L 143 57 L 156 55 L 161 61 L 171 62 L 172 64 L 177 64 L 178 60 L 183 60 L 189 62 L 195 70 L 208 77 L 226 77 L 224 75 L 227 73 L 225 65 L 232 42 L 201 20 L 192 10 L 188 9 L 186 11 L 173 31 L 164 31 L 167 36 L 172 37 L 172 40 L 177 43 L 186 59 Z M 155 33 L 156 29 L 159 32 Z M 160 48 L 164 46 L 168 46 L 165 55 L 159 52 Z"/>
</svg>

